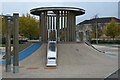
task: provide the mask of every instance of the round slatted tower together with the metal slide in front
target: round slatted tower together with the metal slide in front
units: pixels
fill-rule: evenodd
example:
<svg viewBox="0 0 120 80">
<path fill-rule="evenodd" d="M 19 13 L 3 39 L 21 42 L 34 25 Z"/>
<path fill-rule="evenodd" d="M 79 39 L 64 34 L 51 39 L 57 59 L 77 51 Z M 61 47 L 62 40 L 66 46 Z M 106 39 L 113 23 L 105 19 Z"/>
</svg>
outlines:
<svg viewBox="0 0 120 80">
<path fill-rule="evenodd" d="M 40 17 L 40 42 L 48 42 L 46 66 L 56 66 L 57 43 L 76 42 L 76 16 L 85 11 L 73 7 L 41 7 L 30 13 Z"/>
</svg>

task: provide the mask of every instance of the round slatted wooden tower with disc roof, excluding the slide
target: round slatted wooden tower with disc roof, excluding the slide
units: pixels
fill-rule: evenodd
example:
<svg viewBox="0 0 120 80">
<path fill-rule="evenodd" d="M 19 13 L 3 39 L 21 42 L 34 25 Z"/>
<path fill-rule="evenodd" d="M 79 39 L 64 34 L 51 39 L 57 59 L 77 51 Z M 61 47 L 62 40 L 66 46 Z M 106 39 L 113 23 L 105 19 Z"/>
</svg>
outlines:
<svg viewBox="0 0 120 80">
<path fill-rule="evenodd" d="M 40 17 L 39 39 L 48 41 L 48 30 L 57 30 L 57 41 L 76 41 L 76 16 L 85 14 L 85 10 L 74 7 L 40 7 L 30 13 Z M 52 35 L 52 34 L 51 34 Z"/>
</svg>

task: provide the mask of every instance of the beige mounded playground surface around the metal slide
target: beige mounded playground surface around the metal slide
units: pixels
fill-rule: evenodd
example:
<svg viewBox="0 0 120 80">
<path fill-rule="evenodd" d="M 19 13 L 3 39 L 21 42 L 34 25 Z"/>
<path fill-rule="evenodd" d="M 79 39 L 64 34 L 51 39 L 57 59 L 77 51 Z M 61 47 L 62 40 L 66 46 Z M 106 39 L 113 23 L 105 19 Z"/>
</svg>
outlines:
<svg viewBox="0 0 120 80">
<path fill-rule="evenodd" d="M 118 56 L 94 50 L 85 43 L 58 43 L 56 68 L 46 68 L 47 44 L 20 61 L 19 73 L 5 72 L 3 78 L 106 78 L 118 70 Z"/>
</svg>

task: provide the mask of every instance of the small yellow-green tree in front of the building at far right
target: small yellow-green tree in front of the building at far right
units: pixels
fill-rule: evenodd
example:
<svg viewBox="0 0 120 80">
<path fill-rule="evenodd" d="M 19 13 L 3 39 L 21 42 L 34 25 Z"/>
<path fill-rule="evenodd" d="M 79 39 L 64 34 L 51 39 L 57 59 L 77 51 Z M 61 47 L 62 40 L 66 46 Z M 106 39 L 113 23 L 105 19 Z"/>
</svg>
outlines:
<svg viewBox="0 0 120 80">
<path fill-rule="evenodd" d="M 118 24 L 112 19 L 110 24 L 106 25 L 105 35 L 110 36 L 114 40 L 114 38 L 119 35 L 118 29 Z"/>
</svg>

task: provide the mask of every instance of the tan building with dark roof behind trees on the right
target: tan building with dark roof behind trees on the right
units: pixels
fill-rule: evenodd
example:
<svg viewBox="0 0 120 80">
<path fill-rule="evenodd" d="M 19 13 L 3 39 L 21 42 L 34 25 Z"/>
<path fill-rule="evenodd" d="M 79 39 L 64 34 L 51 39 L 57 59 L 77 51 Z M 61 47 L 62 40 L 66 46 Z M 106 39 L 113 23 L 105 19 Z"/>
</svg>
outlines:
<svg viewBox="0 0 120 80">
<path fill-rule="evenodd" d="M 108 39 L 108 37 L 104 34 L 104 29 L 106 27 L 106 24 L 109 24 L 111 20 L 115 20 L 120 25 L 120 19 L 115 17 L 104 17 L 104 18 L 93 18 L 90 20 L 85 20 L 83 22 L 80 22 L 79 26 L 84 26 L 87 30 L 91 30 L 92 33 L 95 33 L 92 35 L 92 39 L 96 38 L 96 29 L 98 32 L 98 36 L 100 39 Z M 97 25 L 97 28 L 96 28 Z"/>
</svg>

